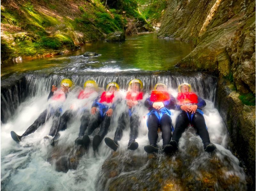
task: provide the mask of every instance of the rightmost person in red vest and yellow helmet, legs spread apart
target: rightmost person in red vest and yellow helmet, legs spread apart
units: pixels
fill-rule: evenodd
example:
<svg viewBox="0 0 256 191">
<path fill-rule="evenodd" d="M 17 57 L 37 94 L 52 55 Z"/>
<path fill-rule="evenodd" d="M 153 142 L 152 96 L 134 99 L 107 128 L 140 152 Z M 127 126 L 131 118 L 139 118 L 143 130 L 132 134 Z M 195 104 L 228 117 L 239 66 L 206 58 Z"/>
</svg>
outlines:
<svg viewBox="0 0 256 191">
<path fill-rule="evenodd" d="M 178 89 L 178 104 L 176 105 L 176 108 L 181 112 L 176 118 L 176 126 L 172 134 L 172 141 L 170 141 L 169 144 L 172 145 L 173 149 L 177 150 L 181 134 L 190 123 L 197 129 L 204 144 L 204 151 L 212 152 L 215 149 L 215 146 L 210 142 L 209 133 L 203 116 L 204 113 L 202 111 L 202 108 L 206 105 L 205 101 L 192 92 L 190 84 L 183 83 Z"/>
</svg>

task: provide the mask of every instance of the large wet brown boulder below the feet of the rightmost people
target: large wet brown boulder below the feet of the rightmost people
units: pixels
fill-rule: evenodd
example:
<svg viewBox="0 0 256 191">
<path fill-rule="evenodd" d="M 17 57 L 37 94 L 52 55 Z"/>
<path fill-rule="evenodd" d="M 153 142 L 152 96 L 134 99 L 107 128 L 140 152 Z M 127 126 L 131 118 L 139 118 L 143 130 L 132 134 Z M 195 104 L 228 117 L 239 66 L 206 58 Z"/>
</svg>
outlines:
<svg viewBox="0 0 256 191">
<path fill-rule="evenodd" d="M 239 161 L 220 145 L 212 153 L 190 129 L 170 155 L 114 152 L 102 165 L 96 190 L 246 190 Z"/>
</svg>

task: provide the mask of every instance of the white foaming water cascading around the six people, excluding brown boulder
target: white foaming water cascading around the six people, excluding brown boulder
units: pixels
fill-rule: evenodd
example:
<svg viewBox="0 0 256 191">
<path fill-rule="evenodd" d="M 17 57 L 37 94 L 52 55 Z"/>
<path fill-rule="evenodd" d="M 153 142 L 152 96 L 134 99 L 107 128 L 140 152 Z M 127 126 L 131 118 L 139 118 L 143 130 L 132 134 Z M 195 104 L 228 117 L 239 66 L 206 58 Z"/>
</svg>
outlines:
<svg viewBox="0 0 256 191">
<path fill-rule="evenodd" d="M 102 73 L 101 73 L 102 74 Z M 52 126 L 52 118 L 47 121 L 43 126 L 39 127 L 34 133 L 24 137 L 22 141 L 17 144 L 12 140 L 10 131 L 14 130 L 17 134 L 21 135 L 30 126 L 34 120 L 44 111 L 49 102 L 47 96 L 50 92 L 52 84 L 58 85 L 60 80 L 66 76 L 53 74 L 47 77 L 42 77 L 36 74 L 26 75 L 27 83 L 27 99 L 21 103 L 16 109 L 12 117 L 9 118 L 7 123 L 1 126 L 1 186 L 5 190 L 96 190 L 101 184 L 98 182 L 101 174 L 101 167 L 104 161 L 112 154 L 105 142 L 102 141 L 98 153 L 95 155 L 90 145 L 88 153 L 84 154 L 79 159 L 79 165 L 76 170 L 68 170 L 67 173 L 55 171 L 54 164 L 46 161 L 52 146 L 49 142 L 45 141 L 43 137 L 47 135 Z M 73 74 L 71 77 L 76 86 L 83 86 L 85 80 L 95 80 L 100 87 L 105 87 L 107 83 L 116 81 L 121 89 L 126 89 L 128 82 L 134 78 L 139 78 L 144 84 L 145 96 L 144 100 L 150 94 L 150 90 L 157 82 L 162 82 L 167 85 L 169 92 L 176 97 L 177 86 L 182 82 L 187 82 L 192 85 L 197 94 L 206 99 L 206 107 L 204 107 L 204 118 L 210 140 L 217 147 L 216 155 L 225 160 L 229 169 L 227 176 L 237 175 L 240 182 L 244 184 L 245 174 L 243 169 L 239 166 L 239 160 L 233 156 L 228 148 L 228 135 L 226 127 L 218 113 L 214 108 L 214 97 L 216 82 L 215 78 L 202 74 L 194 73 L 192 76 L 172 74 L 172 73 L 158 73 L 152 74 L 147 72 L 138 73 L 108 73 L 106 77 L 100 73 L 88 73 L 83 76 Z M 63 104 L 63 112 L 68 110 L 71 105 L 79 106 L 81 101 L 77 100 L 77 92 L 71 91 L 67 100 Z M 119 94 L 124 95 L 125 91 L 121 90 Z M 92 103 L 93 99 L 90 100 Z M 76 108 L 76 107 L 75 107 Z M 120 104 L 116 106 L 113 121 L 109 127 L 106 137 L 113 138 L 118 124 L 118 117 L 125 110 L 125 105 Z M 129 127 L 124 131 L 121 141 L 119 141 L 119 155 L 132 154 L 133 156 L 145 157 L 147 153 L 143 147 L 148 144 L 147 136 L 147 108 L 141 106 L 138 110 L 141 117 L 141 125 L 139 127 L 139 136 L 136 141 L 139 143 L 139 148 L 135 151 L 127 151 L 127 144 L 129 141 Z M 175 126 L 175 119 L 179 111 L 172 110 L 172 124 Z M 68 128 L 61 132 L 58 147 L 63 150 L 75 146 L 74 140 L 76 139 L 79 126 L 80 126 L 81 113 L 77 113 L 76 117 L 69 124 Z M 129 126 L 129 124 L 127 125 Z M 180 152 L 187 154 L 185 137 L 190 134 L 189 141 L 196 141 L 196 146 L 203 150 L 203 144 L 199 136 L 193 134 L 193 130 L 188 128 L 179 142 Z M 162 145 L 161 136 L 159 136 L 158 145 Z M 202 152 L 200 158 L 191 164 L 190 171 L 200 173 L 197 171 L 200 165 L 204 165 L 204 161 L 209 157 L 208 153 Z M 174 159 L 173 159 L 174 160 Z M 125 172 L 124 172 L 125 174 Z"/>
</svg>

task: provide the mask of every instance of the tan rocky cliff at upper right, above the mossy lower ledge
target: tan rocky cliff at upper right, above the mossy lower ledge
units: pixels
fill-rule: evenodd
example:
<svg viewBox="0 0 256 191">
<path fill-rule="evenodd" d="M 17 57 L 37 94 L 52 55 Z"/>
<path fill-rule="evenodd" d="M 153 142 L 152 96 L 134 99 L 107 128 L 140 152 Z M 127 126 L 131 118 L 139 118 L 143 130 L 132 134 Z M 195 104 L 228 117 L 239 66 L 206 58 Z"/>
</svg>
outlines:
<svg viewBox="0 0 256 191">
<path fill-rule="evenodd" d="M 170 1 L 158 36 L 195 45 L 178 66 L 233 75 L 255 94 L 255 1 Z"/>
</svg>

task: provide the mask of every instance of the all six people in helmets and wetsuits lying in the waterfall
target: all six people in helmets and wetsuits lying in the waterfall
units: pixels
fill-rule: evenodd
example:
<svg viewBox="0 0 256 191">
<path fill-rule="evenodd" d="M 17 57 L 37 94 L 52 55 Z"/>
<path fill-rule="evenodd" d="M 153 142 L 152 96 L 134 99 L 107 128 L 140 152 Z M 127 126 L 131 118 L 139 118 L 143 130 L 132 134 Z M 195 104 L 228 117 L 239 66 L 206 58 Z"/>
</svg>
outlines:
<svg viewBox="0 0 256 191">
<path fill-rule="evenodd" d="M 64 102 L 72 85 L 73 82 L 70 79 L 63 79 L 59 89 L 52 85 L 48 100 Z M 128 84 L 128 91 L 125 96 L 126 109 L 118 118 L 118 126 L 114 138 L 111 139 L 106 137 L 104 139 L 107 146 L 114 151 L 119 147 L 118 141 L 122 138 L 128 120 L 130 120 L 131 131 L 127 148 L 130 150 L 138 148 L 138 142 L 135 140 L 138 137 L 138 129 L 140 126 L 138 107 L 143 105 L 142 100 L 144 93 L 142 89 L 143 83 L 139 79 L 133 79 Z M 204 144 L 204 150 L 212 152 L 215 149 L 215 146 L 210 142 L 202 111 L 202 108 L 206 105 L 205 101 L 197 96 L 192 91 L 191 86 L 187 83 L 181 84 L 178 87 L 178 90 L 179 93 L 176 100 L 168 93 L 165 84 L 157 83 L 154 90 L 151 92 L 150 97 L 145 100 L 144 105 L 149 110 L 147 118 L 149 145 L 146 145 L 144 150 L 147 153 L 158 152 L 159 149 L 156 145 L 158 128 L 162 130 L 162 150 L 165 153 L 171 153 L 177 150 L 181 134 L 184 132 L 185 128 L 191 124 L 196 128 L 197 134 L 201 137 Z M 91 141 L 89 136 L 98 126 L 100 126 L 99 132 L 97 132 L 92 139 L 93 150 L 98 149 L 101 141 L 108 133 L 113 111 L 116 110 L 116 106 L 120 102 L 120 98 L 117 96 L 118 91 L 119 85 L 116 82 L 111 82 L 108 83 L 106 90 L 98 96 L 99 88 L 96 82 L 94 80 L 87 80 L 84 82 L 84 89 L 79 92 L 77 98 L 85 100 L 85 102 L 89 98 L 95 98 L 95 100 L 92 106 L 85 104 L 79 110 L 79 112 L 82 113 L 82 117 L 79 134 L 75 140 L 76 144 L 84 145 L 84 147 L 87 148 Z M 172 113 L 170 109 L 180 111 L 180 114 L 176 118 L 175 129 L 172 126 Z M 49 139 L 51 144 L 54 145 L 60 137 L 59 132 L 67 129 L 68 122 L 74 118 L 76 112 L 78 111 L 71 108 L 63 113 L 61 107 L 52 107 L 49 105 L 35 122 L 28 127 L 24 134 L 20 136 L 14 131 L 11 131 L 12 139 L 16 142 L 20 142 L 22 137 L 35 132 L 39 126 L 42 126 L 50 117 L 52 117 L 52 127 L 49 134 L 44 138 Z"/>
</svg>

